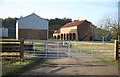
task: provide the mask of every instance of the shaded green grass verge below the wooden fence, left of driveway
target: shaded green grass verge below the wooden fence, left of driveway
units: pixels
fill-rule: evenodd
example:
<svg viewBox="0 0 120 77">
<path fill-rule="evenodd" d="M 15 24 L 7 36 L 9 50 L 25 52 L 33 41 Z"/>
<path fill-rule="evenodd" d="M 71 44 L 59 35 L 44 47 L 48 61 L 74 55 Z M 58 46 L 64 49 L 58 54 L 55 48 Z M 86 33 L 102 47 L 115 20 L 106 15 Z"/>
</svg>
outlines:
<svg viewBox="0 0 120 77">
<path fill-rule="evenodd" d="M 20 61 L 18 58 L 4 58 L 2 59 L 2 76 L 17 75 L 39 59 L 40 58 L 25 58 L 24 61 Z"/>
</svg>

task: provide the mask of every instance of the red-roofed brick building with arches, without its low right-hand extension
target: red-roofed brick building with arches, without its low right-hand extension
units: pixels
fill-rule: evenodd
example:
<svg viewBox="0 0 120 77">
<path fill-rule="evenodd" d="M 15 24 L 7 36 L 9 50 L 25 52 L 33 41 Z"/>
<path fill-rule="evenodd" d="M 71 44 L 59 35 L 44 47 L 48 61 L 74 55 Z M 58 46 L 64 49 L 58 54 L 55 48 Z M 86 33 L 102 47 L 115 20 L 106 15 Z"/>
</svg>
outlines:
<svg viewBox="0 0 120 77">
<path fill-rule="evenodd" d="M 61 40 L 91 41 L 93 40 L 92 23 L 87 20 L 67 23 L 53 34 Z"/>
</svg>

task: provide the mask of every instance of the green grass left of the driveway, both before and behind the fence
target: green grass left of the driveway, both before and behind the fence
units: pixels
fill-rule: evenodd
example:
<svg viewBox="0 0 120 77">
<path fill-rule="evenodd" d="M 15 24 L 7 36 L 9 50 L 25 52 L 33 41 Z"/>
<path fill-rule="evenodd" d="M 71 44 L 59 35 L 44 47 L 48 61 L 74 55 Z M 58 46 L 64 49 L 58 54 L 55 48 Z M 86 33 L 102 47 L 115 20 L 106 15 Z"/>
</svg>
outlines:
<svg viewBox="0 0 120 77">
<path fill-rule="evenodd" d="M 4 39 L 8 40 L 8 39 Z M 15 40 L 15 39 L 9 39 L 9 40 Z M 9 42 L 8 42 L 9 43 Z M 17 42 L 15 42 L 17 43 Z M 24 41 L 25 44 L 31 44 L 33 43 L 32 41 Z M 35 42 L 35 44 L 45 44 L 45 42 Z M 36 51 L 45 51 L 45 49 L 40 49 L 40 48 L 45 48 L 45 46 L 42 45 L 35 45 L 33 48 L 39 48 L 36 49 Z M 43 52 L 39 52 L 36 54 L 45 54 Z M 24 58 L 24 62 L 20 61 L 19 58 L 3 58 L 2 59 L 2 75 L 7 76 L 7 75 L 17 75 L 21 71 L 23 71 L 26 67 L 36 63 L 40 58 Z"/>
</svg>

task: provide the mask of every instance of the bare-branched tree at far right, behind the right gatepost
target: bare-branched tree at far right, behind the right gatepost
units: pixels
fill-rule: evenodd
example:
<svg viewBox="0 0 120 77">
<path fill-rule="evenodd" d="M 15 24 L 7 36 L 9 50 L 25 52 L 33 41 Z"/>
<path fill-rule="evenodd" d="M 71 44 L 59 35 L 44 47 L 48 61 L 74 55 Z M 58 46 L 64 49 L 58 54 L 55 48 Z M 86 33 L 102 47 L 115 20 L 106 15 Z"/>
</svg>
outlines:
<svg viewBox="0 0 120 77">
<path fill-rule="evenodd" d="M 112 39 L 117 39 L 116 35 L 119 32 L 118 29 L 118 18 L 117 15 L 111 15 L 108 17 L 104 17 L 102 20 L 100 20 L 98 22 L 99 28 L 102 29 L 101 33 L 103 39 L 107 36 L 109 36 L 109 34 L 111 34 L 111 38 Z"/>
</svg>

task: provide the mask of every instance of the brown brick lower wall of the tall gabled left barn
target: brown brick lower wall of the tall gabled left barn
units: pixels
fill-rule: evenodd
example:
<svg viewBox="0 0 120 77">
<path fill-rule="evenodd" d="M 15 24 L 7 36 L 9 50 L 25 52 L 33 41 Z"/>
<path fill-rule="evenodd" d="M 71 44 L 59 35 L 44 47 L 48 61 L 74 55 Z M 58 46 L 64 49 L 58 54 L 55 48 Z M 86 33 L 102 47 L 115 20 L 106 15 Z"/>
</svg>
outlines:
<svg viewBox="0 0 120 77">
<path fill-rule="evenodd" d="M 19 39 L 47 40 L 47 30 L 19 29 Z"/>
</svg>

